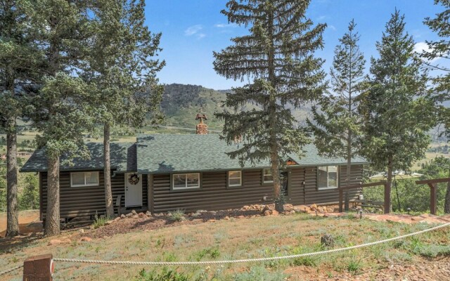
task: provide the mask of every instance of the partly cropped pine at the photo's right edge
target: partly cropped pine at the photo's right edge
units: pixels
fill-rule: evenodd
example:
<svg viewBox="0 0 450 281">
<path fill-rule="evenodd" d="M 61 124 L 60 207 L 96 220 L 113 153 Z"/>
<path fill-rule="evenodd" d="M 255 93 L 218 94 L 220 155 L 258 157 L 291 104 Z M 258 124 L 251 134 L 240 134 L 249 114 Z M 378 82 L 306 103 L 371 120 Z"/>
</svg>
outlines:
<svg viewBox="0 0 450 281">
<path fill-rule="evenodd" d="M 442 74 L 437 75 L 432 79 L 435 84 L 435 99 L 438 103 L 450 100 L 450 67 L 446 67 L 450 60 L 450 1 L 449 0 L 435 0 L 435 5 L 442 4 L 445 10 L 442 13 L 437 13 L 436 18 L 425 18 L 425 25 L 428 25 L 433 32 L 437 32 L 438 41 L 427 41 L 428 48 L 431 51 L 422 53 L 424 63 L 431 69 L 437 70 Z M 436 63 L 432 60 L 438 59 Z M 444 62 L 444 63 L 442 63 Z M 438 107 L 438 121 L 445 126 L 445 134 L 450 137 L 450 109 L 440 105 Z M 447 185 L 444 213 L 450 214 L 450 183 Z"/>
</svg>

